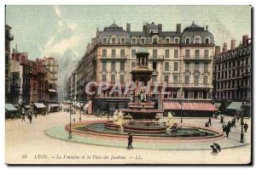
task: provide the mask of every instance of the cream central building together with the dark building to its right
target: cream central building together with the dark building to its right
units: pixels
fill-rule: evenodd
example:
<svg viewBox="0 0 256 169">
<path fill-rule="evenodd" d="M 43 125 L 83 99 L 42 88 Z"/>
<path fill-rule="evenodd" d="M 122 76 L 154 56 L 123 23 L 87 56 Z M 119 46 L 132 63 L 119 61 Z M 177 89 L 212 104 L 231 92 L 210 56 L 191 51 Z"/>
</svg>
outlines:
<svg viewBox="0 0 256 169">
<path fill-rule="evenodd" d="M 136 52 L 142 46 L 149 52 L 148 65 L 154 70 L 152 81 L 167 82 L 168 95 L 154 94 L 155 109 L 180 115 L 207 116 L 217 111 L 213 106 L 222 99 L 249 102 L 251 99 L 251 43 L 247 36 L 235 47 L 232 40 L 221 51 L 214 44 L 208 27 L 192 25 L 183 31 L 163 31 L 162 25 L 144 24 L 143 31 L 124 30 L 113 23 L 103 31 L 96 31 L 86 52 L 67 82 L 67 99 L 81 103 L 92 102 L 91 111 L 127 107 L 130 95 L 109 94 L 114 82 L 131 81 L 131 70 L 136 65 Z M 84 87 L 88 82 L 109 82 L 108 91 L 89 96 Z M 181 107 L 183 103 L 183 108 Z M 207 113 L 208 112 L 208 113 Z"/>
</svg>

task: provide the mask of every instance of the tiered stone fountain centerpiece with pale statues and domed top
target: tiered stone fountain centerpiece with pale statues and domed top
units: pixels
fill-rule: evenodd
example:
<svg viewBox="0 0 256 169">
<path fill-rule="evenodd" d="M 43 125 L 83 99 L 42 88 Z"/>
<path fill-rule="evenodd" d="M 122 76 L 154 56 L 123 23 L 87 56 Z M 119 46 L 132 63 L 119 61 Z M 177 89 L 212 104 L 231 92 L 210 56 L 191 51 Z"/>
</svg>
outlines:
<svg viewBox="0 0 256 169">
<path fill-rule="evenodd" d="M 173 127 L 174 122 L 170 115 L 167 122 L 160 121 L 164 110 L 155 110 L 154 102 L 151 101 L 151 89 L 147 89 L 147 84 L 151 81 L 154 70 L 148 68 L 148 50 L 139 48 L 136 55 L 137 66 L 131 70 L 131 75 L 137 87 L 132 91 L 128 109 L 116 110 L 113 121 L 106 121 L 105 127 L 119 129 L 121 132 L 166 132 L 166 129 Z M 142 84 L 140 89 L 139 83 Z"/>
</svg>

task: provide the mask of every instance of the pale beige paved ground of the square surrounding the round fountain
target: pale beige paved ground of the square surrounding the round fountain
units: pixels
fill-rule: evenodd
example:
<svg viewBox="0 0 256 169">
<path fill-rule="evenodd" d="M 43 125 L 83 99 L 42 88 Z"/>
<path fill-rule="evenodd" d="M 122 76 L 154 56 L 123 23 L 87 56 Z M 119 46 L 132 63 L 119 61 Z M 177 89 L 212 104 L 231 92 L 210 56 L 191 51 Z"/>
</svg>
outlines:
<svg viewBox="0 0 256 169">
<path fill-rule="evenodd" d="M 72 116 L 79 121 L 79 113 Z M 106 117 L 102 117 L 106 118 Z M 82 115 L 82 121 L 96 120 L 99 117 L 92 115 Z M 225 117 L 224 121 L 228 121 Z M 175 121 L 179 121 L 177 118 Z M 194 123 L 204 126 L 207 118 L 184 118 L 185 123 Z M 245 142 L 250 142 L 250 127 L 245 133 Z M 50 138 L 44 134 L 44 130 L 51 127 L 64 126 L 69 123 L 69 114 L 67 112 L 56 112 L 46 116 L 38 115 L 35 119 L 33 116 L 32 124 L 29 124 L 26 118 L 25 122 L 21 119 L 6 121 L 6 162 L 7 163 L 247 163 L 250 161 L 251 145 L 242 146 L 234 149 L 223 149 L 218 155 L 211 155 L 211 150 L 148 150 L 103 147 L 91 144 L 71 143 L 55 138 Z M 238 125 L 238 123 L 236 123 Z M 221 127 L 219 119 L 212 118 L 212 127 Z M 230 138 L 232 135 L 239 136 L 241 128 L 231 128 Z M 228 138 L 223 138 L 228 139 Z M 235 137 L 234 139 L 238 139 Z M 39 155 L 39 156 L 38 156 Z M 42 156 L 40 156 L 42 155 Z M 47 155 L 47 156 L 44 156 Z M 85 155 L 85 156 L 84 156 Z M 38 159 L 39 158 L 39 159 Z"/>
</svg>

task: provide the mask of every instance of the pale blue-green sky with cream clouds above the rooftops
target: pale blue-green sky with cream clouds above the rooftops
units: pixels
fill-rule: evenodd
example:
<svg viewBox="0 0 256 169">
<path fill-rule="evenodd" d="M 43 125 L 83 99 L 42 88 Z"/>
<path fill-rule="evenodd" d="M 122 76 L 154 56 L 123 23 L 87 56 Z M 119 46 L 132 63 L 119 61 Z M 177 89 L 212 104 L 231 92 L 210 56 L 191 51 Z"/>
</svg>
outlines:
<svg viewBox="0 0 256 169">
<path fill-rule="evenodd" d="M 102 30 L 115 23 L 131 23 L 131 31 L 142 31 L 143 21 L 163 24 L 163 31 L 175 31 L 195 24 L 212 32 L 216 45 L 251 34 L 251 14 L 248 6 L 7 6 L 6 24 L 12 27 L 20 52 L 30 59 L 52 55 L 57 58 L 81 58 L 96 27 Z"/>
</svg>

